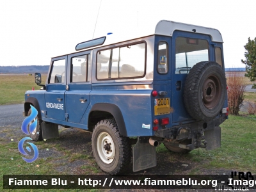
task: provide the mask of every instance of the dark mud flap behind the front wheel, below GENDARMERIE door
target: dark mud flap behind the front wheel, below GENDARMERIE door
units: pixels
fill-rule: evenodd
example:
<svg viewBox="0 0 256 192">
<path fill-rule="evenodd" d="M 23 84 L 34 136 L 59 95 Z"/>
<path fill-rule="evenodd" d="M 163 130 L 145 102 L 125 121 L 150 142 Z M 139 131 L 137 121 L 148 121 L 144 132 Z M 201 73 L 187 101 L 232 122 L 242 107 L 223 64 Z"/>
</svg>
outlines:
<svg viewBox="0 0 256 192">
<path fill-rule="evenodd" d="M 58 138 L 59 129 L 57 124 L 52 124 L 48 122 L 42 122 L 42 135 L 43 139 Z"/>
</svg>

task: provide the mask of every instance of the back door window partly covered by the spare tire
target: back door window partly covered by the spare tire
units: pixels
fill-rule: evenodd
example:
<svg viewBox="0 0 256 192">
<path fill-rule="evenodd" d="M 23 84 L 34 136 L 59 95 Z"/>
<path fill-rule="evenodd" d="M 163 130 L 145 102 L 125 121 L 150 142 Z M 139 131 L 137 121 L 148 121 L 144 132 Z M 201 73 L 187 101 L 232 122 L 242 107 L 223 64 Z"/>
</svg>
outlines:
<svg viewBox="0 0 256 192">
<path fill-rule="evenodd" d="M 178 37 L 175 48 L 175 74 L 188 74 L 196 63 L 209 61 L 209 44 L 207 40 Z"/>
</svg>

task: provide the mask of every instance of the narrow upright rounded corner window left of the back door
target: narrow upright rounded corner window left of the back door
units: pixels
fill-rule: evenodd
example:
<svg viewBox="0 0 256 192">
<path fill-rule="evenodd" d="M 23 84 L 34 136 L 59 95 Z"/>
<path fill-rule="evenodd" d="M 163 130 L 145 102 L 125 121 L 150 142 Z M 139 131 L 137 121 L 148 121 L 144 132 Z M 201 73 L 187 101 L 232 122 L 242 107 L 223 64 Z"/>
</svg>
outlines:
<svg viewBox="0 0 256 192">
<path fill-rule="evenodd" d="M 157 71 L 159 74 L 166 74 L 168 72 L 168 47 L 166 42 L 159 42 L 158 44 L 158 58 Z"/>
</svg>

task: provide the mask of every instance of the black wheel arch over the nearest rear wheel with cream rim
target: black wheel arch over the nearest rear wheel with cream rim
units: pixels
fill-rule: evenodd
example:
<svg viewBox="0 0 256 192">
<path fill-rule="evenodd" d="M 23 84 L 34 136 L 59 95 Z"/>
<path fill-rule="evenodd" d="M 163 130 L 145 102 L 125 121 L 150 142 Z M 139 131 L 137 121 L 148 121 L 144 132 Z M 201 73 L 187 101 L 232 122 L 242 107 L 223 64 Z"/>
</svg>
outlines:
<svg viewBox="0 0 256 192">
<path fill-rule="evenodd" d="M 103 113 L 102 113 L 103 112 Z M 93 118 L 93 115 L 97 116 Z M 122 136 L 127 136 L 127 131 L 125 127 L 124 117 L 122 111 L 115 104 L 109 103 L 97 103 L 93 105 L 88 116 L 88 129 L 92 131 L 94 125 L 100 120 L 104 120 L 110 117 L 115 118 L 116 124 L 118 126 L 119 132 Z M 97 121 L 93 121 L 93 119 Z"/>
</svg>

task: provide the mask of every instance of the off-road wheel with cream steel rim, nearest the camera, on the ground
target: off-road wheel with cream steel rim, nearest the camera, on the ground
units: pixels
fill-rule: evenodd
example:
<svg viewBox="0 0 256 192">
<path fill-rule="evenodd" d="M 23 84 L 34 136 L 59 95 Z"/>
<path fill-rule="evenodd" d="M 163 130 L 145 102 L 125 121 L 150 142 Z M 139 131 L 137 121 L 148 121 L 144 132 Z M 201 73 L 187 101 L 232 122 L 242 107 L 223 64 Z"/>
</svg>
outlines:
<svg viewBox="0 0 256 192">
<path fill-rule="evenodd" d="M 109 144 L 109 140 L 113 141 L 115 147 L 112 143 L 108 145 L 107 150 L 102 145 L 106 141 L 106 144 Z M 104 144 L 100 145 L 99 143 Z M 113 148 L 109 148 L 109 146 Z M 115 152 L 113 157 L 110 150 Z M 132 148 L 129 138 L 120 135 L 115 119 L 101 120 L 95 125 L 92 133 L 92 152 L 99 167 L 110 175 L 123 173 L 131 163 Z M 106 154 L 106 152 L 109 152 L 109 154 Z M 109 160 L 107 156 L 111 156 Z"/>
</svg>

